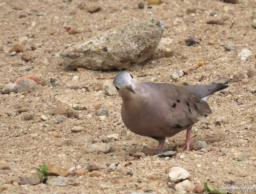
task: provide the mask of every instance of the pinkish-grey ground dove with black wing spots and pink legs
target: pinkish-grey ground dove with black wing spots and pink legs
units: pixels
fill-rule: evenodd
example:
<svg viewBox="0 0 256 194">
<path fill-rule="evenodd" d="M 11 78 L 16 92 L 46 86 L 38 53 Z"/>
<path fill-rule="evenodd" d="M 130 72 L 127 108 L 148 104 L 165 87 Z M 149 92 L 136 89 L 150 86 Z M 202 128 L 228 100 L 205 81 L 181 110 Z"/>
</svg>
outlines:
<svg viewBox="0 0 256 194">
<path fill-rule="evenodd" d="M 169 83 L 142 82 L 123 71 L 116 75 L 114 85 L 123 99 L 121 115 L 133 133 L 151 137 L 164 146 L 165 137 L 187 129 L 184 151 L 195 139 L 190 138 L 192 126 L 212 114 L 205 102 L 214 92 L 225 89 L 222 83 L 176 86 Z"/>
</svg>

